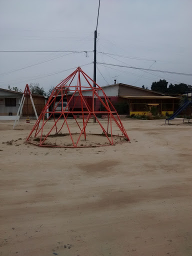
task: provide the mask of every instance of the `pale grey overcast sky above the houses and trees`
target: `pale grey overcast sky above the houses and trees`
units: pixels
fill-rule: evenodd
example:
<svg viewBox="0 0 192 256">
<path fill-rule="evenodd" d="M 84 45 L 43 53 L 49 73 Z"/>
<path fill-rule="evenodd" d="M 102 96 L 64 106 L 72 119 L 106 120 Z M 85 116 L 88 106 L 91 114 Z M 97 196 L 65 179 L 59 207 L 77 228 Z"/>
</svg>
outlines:
<svg viewBox="0 0 192 256">
<path fill-rule="evenodd" d="M 87 56 L 0 52 L 0 87 L 23 89 L 38 82 L 47 91 L 73 70 L 59 71 L 91 63 L 97 9 L 98 0 L 0 0 L 0 50 L 90 51 Z M 191 9 L 191 0 L 100 0 L 97 52 L 115 55 L 97 53 L 97 61 L 192 73 Z M 14 71 L 28 65 L 33 66 Z M 192 76 L 97 67 L 101 86 L 112 84 L 114 76 L 117 82 L 139 87 L 163 78 L 192 84 Z M 82 69 L 93 77 L 92 63 Z"/>
</svg>

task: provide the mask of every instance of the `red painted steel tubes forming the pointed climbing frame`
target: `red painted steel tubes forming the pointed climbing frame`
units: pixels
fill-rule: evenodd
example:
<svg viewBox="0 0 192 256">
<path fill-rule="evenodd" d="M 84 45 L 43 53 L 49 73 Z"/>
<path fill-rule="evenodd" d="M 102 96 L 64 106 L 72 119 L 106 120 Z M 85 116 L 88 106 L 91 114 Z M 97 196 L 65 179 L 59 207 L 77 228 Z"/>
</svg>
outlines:
<svg viewBox="0 0 192 256">
<path fill-rule="evenodd" d="M 77 75 L 77 85 L 73 86 L 72 85 L 72 81 L 74 79 L 74 77 Z M 81 77 L 83 76 L 83 78 L 85 79 L 85 83 L 87 83 L 87 86 L 84 86 L 83 84 L 81 84 Z M 93 82 L 96 87 L 92 86 L 90 82 Z M 69 83 L 69 84 L 67 84 Z M 70 90 L 73 91 L 70 95 L 70 99 L 68 100 L 68 91 Z M 102 91 L 103 94 L 103 98 L 101 98 L 101 96 L 99 95 L 99 91 Z M 82 94 L 83 91 L 92 91 L 92 106 L 90 107 L 90 105 L 87 103 L 86 98 L 84 97 L 84 95 Z M 26 91 L 27 92 L 27 91 Z M 55 105 L 56 102 L 56 96 L 59 95 L 59 93 L 61 94 L 61 98 L 58 100 L 57 104 Z M 76 97 L 76 100 L 74 102 L 74 97 L 76 96 L 75 94 L 78 94 Z M 99 93 L 99 94 L 98 94 Z M 66 106 L 63 108 L 63 98 L 66 96 L 66 101 L 67 104 Z M 80 97 L 80 106 L 81 106 L 81 110 L 79 111 L 74 111 L 74 106 L 78 100 L 78 98 Z M 95 110 L 94 109 L 94 97 L 96 97 L 99 102 L 104 106 L 105 110 L 104 111 L 99 111 L 99 110 Z M 73 107 L 72 109 L 69 108 L 69 103 L 73 100 Z M 59 105 L 59 103 L 61 102 L 62 104 L 62 108 L 61 111 L 56 111 L 56 107 Z M 53 106 L 53 111 L 48 111 L 48 108 L 50 107 L 51 104 L 54 104 Z M 66 111 L 66 108 L 68 107 L 68 111 Z M 112 110 L 111 110 L 112 109 Z M 49 113 L 49 117 L 47 118 L 47 120 L 45 121 L 45 114 Z M 57 117 L 57 119 L 55 118 L 55 114 L 59 114 L 59 117 Z M 77 139 L 77 142 L 75 143 L 73 141 L 73 137 L 72 137 L 72 133 L 70 132 L 70 128 L 68 125 L 68 120 L 66 119 L 68 117 L 69 114 L 72 114 L 73 118 L 75 119 L 75 122 L 77 123 L 79 129 L 80 129 L 80 135 Z M 80 125 L 75 117 L 75 114 L 81 114 L 82 115 L 82 123 L 83 123 L 83 127 L 82 129 L 80 128 Z M 101 122 L 98 120 L 98 118 L 96 117 L 96 114 L 107 114 L 107 132 L 104 129 L 104 127 L 102 126 Z M 105 136 L 107 137 L 109 143 L 112 145 L 114 144 L 113 141 L 113 134 L 112 134 L 112 119 L 114 120 L 115 124 L 117 125 L 117 127 L 119 128 L 119 130 L 122 132 L 122 135 L 124 137 L 127 138 L 127 140 L 129 140 L 128 135 L 126 133 L 126 130 L 124 129 L 122 122 L 119 118 L 118 113 L 116 112 L 113 104 L 111 103 L 111 101 L 108 99 L 107 95 L 105 94 L 105 92 L 103 91 L 103 89 L 97 84 L 95 83 L 85 72 L 82 71 L 82 69 L 80 67 L 77 67 L 70 75 L 68 75 L 65 79 L 63 79 L 51 92 L 51 96 L 49 97 L 49 99 L 47 100 L 43 110 L 41 111 L 41 114 L 39 115 L 39 118 L 37 119 L 37 121 L 35 122 L 29 136 L 27 137 L 27 140 L 30 138 L 30 136 L 32 135 L 32 133 L 35 130 L 35 134 L 34 136 L 36 136 L 39 132 L 41 132 L 40 135 L 40 143 L 39 146 L 47 146 L 47 145 L 43 145 L 44 141 L 46 140 L 46 138 L 48 137 L 48 135 L 50 134 L 50 132 L 52 131 L 52 129 L 55 127 L 56 129 L 56 133 L 58 133 L 64 123 L 66 122 L 67 128 L 68 128 L 68 132 L 72 141 L 73 146 L 71 147 L 78 147 L 77 144 L 79 142 L 80 136 L 82 133 L 84 133 L 84 138 L 86 138 L 86 126 L 88 123 L 88 120 L 90 118 L 90 116 L 93 115 L 95 117 L 95 119 L 97 120 L 98 124 L 100 125 L 103 133 L 105 134 Z M 46 134 L 45 137 L 42 137 L 43 134 L 43 128 L 44 125 L 46 124 L 46 122 L 50 119 L 50 117 L 53 116 L 54 119 L 54 124 L 52 125 L 52 127 L 50 128 L 50 130 L 48 131 L 48 133 Z M 60 128 L 57 128 L 58 125 L 58 121 L 61 117 L 64 117 L 64 121 L 61 123 Z M 86 116 L 86 117 L 85 117 Z M 115 117 L 116 116 L 116 117 Z M 109 128 L 109 117 L 110 117 L 110 128 Z M 39 128 L 39 123 L 42 120 L 42 127 Z M 111 139 L 109 138 L 109 129 L 110 129 L 110 136 Z M 62 146 L 61 146 L 62 147 Z M 65 146 L 63 146 L 65 147 Z M 67 147 L 67 146 L 66 146 Z M 80 146 L 81 147 L 81 146 Z M 84 146 L 84 147 L 89 147 L 89 146 Z"/>
</svg>

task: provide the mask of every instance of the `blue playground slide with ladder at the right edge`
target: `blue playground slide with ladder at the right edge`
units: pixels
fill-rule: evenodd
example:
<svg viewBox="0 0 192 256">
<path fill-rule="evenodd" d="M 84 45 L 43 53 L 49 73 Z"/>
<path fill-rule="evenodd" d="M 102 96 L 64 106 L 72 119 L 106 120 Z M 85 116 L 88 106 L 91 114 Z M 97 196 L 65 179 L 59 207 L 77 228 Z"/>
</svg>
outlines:
<svg viewBox="0 0 192 256">
<path fill-rule="evenodd" d="M 192 111 L 192 91 L 186 91 L 184 93 L 184 99 L 185 99 L 184 103 L 169 118 L 166 118 L 165 123 L 168 120 L 168 124 L 169 124 L 169 120 L 174 119 L 174 117 L 176 117 L 176 115 L 178 115 L 182 110 L 185 109 L 184 118 L 182 121 L 182 122 L 184 122 L 187 106 L 190 106 L 190 115 L 188 118 L 188 122 L 189 122 L 190 116 L 191 116 L 191 111 Z"/>
</svg>

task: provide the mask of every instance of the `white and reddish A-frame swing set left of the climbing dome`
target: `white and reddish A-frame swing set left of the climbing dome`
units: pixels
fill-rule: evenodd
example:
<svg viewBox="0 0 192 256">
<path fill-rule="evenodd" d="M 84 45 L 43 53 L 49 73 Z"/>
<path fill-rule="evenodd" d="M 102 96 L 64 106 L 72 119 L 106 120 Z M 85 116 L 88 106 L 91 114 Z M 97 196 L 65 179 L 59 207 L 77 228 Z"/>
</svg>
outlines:
<svg viewBox="0 0 192 256">
<path fill-rule="evenodd" d="M 37 113 L 36 113 L 36 109 L 35 109 L 35 106 L 34 106 L 34 103 L 33 103 L 33 100 L 32 100 L 32 96 L 31 96 L 31 93 L 30 93 L 30 89 L 28 87 L 28 84 L 26 84 L 26 86 L 24 88 L 24 92 L 22 94 L 22 98 L 21 98 L 21 101 L 20 101 L 20 104 L 19 104 L 19 107 L 18 107 L 18 111 L 17 111 L 16 118 L 15 118 L 15 121 L 14 121 L 12 129 L 14 129 L 15 125 L 18 124 L 18 121 L 20 119 L 20 114 L 22 112 L 22 107 L 24 105 L 25 98 L 27 100 L 26 123 L 30 122 L 30 119 L 29 119 L 29 116 L 28 116 L 28 98 L 30 98 L 30 101 L 31 101 L 31 104 L 32 104 L 32 107 L 33 107 L 33 110 L 34 110 L 34 114 L 36 116 L 36 119 L 38 119 L 38 116 L 37 116 Z"/>
</svg>

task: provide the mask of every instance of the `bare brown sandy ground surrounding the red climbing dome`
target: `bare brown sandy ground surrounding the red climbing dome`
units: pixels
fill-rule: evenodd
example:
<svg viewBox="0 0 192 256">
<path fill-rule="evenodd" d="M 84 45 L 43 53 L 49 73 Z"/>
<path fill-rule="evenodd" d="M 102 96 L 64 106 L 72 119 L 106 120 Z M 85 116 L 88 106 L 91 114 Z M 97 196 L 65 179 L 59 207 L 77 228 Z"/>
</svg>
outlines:
<svg viewBox="0 0 192 256">
<path fill-rule="evenodd" d="M 1 121 L 0 255 L 191 256 L 192 126 L 181 122 L 123 120 L 130 143 L 66 149 L 26 144 L 32 123 Z"/>
</svg>

